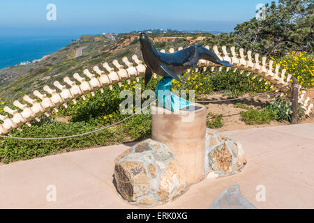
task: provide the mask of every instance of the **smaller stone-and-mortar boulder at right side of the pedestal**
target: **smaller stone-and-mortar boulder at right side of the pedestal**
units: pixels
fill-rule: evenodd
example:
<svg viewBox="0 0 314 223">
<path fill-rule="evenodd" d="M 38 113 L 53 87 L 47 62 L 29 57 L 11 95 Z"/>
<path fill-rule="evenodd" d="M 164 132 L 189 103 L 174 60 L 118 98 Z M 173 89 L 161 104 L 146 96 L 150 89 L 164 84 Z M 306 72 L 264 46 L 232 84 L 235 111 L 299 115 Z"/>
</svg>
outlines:
<svg viewBox="0 0 314 223">
<path fill-rule="evenodd" d="M 241 144 L 216 130 L 207 129 L 204 175 L 218 178 L 237 174 L 246 165 Z"/>
</svg>

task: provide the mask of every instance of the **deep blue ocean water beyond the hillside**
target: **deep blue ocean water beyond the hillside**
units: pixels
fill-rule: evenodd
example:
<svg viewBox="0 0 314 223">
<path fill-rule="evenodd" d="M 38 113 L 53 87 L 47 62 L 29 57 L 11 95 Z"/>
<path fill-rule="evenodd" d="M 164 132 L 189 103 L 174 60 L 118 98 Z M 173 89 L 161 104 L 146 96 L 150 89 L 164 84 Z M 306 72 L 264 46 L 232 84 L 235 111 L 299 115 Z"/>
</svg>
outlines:
<svg viewBox="0 0 314 223">
<path fill-rule="evenodd" d="M 41 59 L 76 40 L 79 36 L 0 36 L 0 69 Z"/>
</svg>

